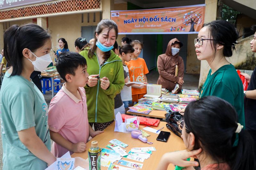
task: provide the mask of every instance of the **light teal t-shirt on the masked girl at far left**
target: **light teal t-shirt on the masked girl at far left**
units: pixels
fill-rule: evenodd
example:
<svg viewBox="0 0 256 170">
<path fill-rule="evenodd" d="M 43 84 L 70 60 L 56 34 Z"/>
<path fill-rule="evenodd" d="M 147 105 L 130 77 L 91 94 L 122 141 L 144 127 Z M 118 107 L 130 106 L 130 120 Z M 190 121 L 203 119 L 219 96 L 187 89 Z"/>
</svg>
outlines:
<svg viewBox="0 0 256 170">
<path fill-rule="evenodd" d="M 35 127 L 37 136 L 50 151 L 47 104 L 42 92 L 32 81 L 10 75 L 6 71 L 0 91 L 3 170 L 44 170 L 47 168 L 46 162 L 21 143 L 17 131 Z"/>
</svg>

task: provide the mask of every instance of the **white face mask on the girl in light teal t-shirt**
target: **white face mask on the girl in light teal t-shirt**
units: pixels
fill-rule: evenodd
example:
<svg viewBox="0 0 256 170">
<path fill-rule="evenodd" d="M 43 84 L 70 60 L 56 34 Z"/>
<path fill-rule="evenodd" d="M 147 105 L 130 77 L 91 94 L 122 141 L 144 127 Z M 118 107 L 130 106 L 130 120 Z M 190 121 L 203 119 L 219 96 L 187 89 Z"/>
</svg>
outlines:
<svg viewBox="0 0 256 170">
<path fill-rule="evenodd" d="M 29 50 L 30 51 L 30 50 Z M 30 51 L 31 52 L 31 51 Z M 32 52 L 31 52 L 32 53 Z M 35 55 L 34 53 L 32 53 L 33 55 Z M 36 55 L 35 55 L 36 56 Z M 29 60 L 29 59 L 28 59 Z M 31 60 L 29 60 L 31 61 Z M 44 69 L 50 64 L 52 63 L 52 58 L 50 53 L 43 55 L 41 57 L 37 57 L 36 56 L 36 60 L 35 61 L 31 61 L 32 64 L 34 65 L 34 70 L 35 71 L 44 71 Z"/>
</svg>

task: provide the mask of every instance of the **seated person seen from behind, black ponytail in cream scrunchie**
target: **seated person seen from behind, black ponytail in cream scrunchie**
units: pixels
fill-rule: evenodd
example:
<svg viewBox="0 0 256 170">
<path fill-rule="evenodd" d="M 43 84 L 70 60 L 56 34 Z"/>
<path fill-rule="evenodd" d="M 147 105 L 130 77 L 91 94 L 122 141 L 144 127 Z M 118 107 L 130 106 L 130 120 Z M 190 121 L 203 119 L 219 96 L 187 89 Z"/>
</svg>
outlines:
<svg viewBox="0 0 256 170">
<path fill-rule="evenodd" d="M 184 121 L 178 122 L 188 151 L 165 153 L 157 170 L 167 169 L 169 164 L 194 169 L 198 162 L 186 161 L 190 157 L 199 159 L 201 170 L 255 169 L 252 138 L 237 120 L 235 108 L 219 97 L 190 102 Z"/>
</svg>

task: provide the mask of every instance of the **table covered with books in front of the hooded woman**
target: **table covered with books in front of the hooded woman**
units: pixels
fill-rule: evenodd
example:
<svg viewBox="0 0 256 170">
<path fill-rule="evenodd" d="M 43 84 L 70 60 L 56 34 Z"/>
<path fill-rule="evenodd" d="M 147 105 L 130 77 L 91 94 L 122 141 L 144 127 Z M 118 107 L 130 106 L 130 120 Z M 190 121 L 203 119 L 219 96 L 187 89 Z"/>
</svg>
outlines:
<svg viewBox="0 0 256 170">
<path fill-rule="evenodd" d="M 130 109 L 127 111 L 127 114 L 165 119 L 167 112 L 177 113 L 180 110 L 184 110 L 190 101 L 197 100 L 198 98 L 199 93 L 196 90 L 182 89 L 182 94 L 162 92 L 160 98 L 145 97 L 139 99 L 135 106 L 129 107 Z"/>
</svg>

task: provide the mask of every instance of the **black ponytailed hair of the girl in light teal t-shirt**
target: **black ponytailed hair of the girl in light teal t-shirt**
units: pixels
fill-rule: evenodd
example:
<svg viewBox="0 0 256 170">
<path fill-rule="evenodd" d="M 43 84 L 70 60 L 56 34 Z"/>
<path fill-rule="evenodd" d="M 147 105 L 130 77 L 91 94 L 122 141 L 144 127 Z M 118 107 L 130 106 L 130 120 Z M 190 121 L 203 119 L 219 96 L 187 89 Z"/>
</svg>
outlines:
<svg viewBox="0 0 256 170">
<path fill-rule="evenodd" d="M 32 52 L 44 46 L 51 35 L 35 24 L 13 25 L 4 32 L 4 56 L 12 66 L 11 76 L 20 75 L 22 71 L 23 49 Z"/>
</svg>

